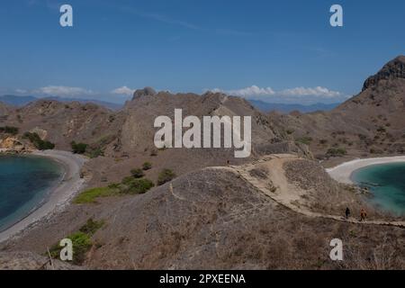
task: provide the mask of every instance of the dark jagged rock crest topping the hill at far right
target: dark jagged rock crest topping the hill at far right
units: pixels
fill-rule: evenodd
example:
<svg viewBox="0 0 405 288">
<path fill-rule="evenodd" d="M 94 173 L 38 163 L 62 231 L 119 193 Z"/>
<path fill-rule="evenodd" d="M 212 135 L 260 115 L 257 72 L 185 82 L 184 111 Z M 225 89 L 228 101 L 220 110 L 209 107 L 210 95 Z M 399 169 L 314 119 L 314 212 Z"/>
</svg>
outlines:
<svg viewBox="0 0 405 288">
<path fill-rule="evenodd" d="M 381 80 L 405 78 L 405 56 L 401 55 L 384 65 L 384 67 L 374 76 L 365 80 L 363 91 L 369 87 L 378 85 Z"/>
</svg>

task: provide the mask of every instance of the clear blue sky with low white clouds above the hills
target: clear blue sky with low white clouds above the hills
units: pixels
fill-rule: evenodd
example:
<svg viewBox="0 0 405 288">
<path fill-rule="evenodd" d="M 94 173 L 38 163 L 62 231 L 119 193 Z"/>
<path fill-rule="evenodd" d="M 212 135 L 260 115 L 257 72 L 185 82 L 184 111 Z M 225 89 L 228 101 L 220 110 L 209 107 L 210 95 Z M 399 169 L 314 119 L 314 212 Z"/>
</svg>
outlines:
<svg viewBox="0 0 405 288">
<path fill-rule="evenodd" d="M 74 27 L 59 25 L 61 4 Z M 332 4 L 344 27 L 330 26 Z M 404 11 L 403 0 L 3 0 L 0 94 L 121 102 L 150 85 L 339 102 L 405 54 Z"/>
</svg>

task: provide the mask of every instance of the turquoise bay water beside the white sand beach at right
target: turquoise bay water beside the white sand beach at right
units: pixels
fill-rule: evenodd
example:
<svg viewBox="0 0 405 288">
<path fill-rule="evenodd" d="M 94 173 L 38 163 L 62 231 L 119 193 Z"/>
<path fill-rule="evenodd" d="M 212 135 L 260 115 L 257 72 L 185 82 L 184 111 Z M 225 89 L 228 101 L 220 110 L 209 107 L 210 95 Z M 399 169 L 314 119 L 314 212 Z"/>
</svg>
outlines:
<svg viewBox="0 0 405 288">
<path fill-rule="evenodd" d="M 370 189 L 372 203 L 394 214 L 405 214 L 405 163 L 366 166 L 352 180 Z"/>
</svg>

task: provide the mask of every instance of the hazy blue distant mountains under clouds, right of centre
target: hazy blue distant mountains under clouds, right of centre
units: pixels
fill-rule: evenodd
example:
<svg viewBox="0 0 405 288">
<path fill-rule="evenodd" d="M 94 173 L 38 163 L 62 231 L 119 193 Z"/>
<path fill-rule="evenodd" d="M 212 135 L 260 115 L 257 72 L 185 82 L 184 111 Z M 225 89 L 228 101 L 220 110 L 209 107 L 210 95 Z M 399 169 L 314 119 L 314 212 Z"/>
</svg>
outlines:
<svg viewBox="0 0 405 288">
<path fill-rule="evenodd" d="M 311 105 L 302 104 L 287 104 L 287 103 L 266 103 L 260 100 L 249 100 L 258 110 L 262 112 L 284 112 L 289 113 L 299 111 L 302 113 L 317 112 L 317 111 L 330 111 L 338 107 L 340 103 L 315 103 Z"/>
</svg>

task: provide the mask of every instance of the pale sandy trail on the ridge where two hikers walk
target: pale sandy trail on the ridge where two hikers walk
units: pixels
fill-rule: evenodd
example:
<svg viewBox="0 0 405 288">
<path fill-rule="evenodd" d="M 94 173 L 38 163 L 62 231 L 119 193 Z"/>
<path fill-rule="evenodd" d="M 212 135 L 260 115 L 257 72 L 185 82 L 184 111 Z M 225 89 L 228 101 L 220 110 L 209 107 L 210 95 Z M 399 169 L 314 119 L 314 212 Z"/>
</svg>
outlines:
<svg viewBox="0 0 405 288">
<path fill-rule="evenodd" d="M 294 204 L 294 202 L 298 202 L 300 199 L 302 199 L 302 195 L 305 194 L 305 191 L 295 186 L 294 184 L 288 182 L 283 167 L 285 162 L 292 161 L 295 159 L 299 159 L 299 157 L 291 154 L 279 154 L 266 156 L 260 160 L 254 161 L 253 163 L 245 164 L 242 166 L 228 166 L 217 168 L 226 169 L 240 175 L 240 177 L 244 179 L 248 184 L 251 184 L 255 189 L 257 189 L 261 193 L 265 193 L 266 196 L 270 197 L 275 202 L 307 217 L 338 220 L 362 225 L 383 225 L 383 226 L 395 226 L 399 228 L 405 228 L 405 220 L 404 221 L 386 221 L 386 220 L 359 221 L 353 219 L 347 220 L 342 216 L 322 214 L 310 211 L 307 208 L 297 206 L 296 204 Z M 273 182 L 274 188 L 269 186 L 268 180 L 267 181 L 261 180 L 249 174 L 250 170 L 256 168 L 257 165 L 260 164 L 265 164 L 270 167 L 269 178 Z"/>
</svg>

